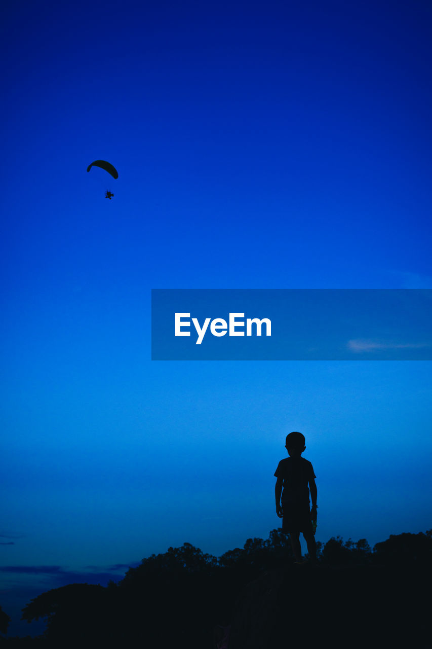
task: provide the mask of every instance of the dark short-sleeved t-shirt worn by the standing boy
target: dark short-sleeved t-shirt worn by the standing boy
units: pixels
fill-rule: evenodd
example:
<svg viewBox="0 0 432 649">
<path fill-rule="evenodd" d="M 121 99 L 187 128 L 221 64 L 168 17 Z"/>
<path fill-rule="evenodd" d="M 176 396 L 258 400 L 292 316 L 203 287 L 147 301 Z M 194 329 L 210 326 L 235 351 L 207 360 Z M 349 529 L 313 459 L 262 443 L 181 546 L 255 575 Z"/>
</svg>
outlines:
<svg viewBox="0 0 432 649">
<path fill-rule="evenodd" d="M 283 478 L 282 506 L 309 505 L 309 480 L 317 476 L 308 459 L 281 459 L 274 472 L 276 478 Z"/>
</svg>

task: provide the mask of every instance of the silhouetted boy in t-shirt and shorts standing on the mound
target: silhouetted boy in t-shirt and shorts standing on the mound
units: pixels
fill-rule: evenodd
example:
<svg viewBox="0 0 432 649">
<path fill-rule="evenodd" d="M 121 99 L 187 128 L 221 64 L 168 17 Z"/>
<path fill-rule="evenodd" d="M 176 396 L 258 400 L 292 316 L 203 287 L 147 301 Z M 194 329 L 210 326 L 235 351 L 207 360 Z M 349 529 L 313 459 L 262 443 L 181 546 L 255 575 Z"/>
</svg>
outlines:
<svg viewBox="0 0 432 649">
<path fill-rule="evenodd" d="M 304 435 L 297 431 L 287 435 L 285 448 L 289 458 L 281 459 L 274 472 L 277 478 L 274 489 L 276 514 L 282 518 L 282 531 L 289 533 L 295 563 L 303 563 L 300 532 L 303 532 L 307 543 L 310 560 L 316 561 L 317 544 L 312 520 L 314 522 L 317 520 L 317 485 L 315 484 L 317 476 L 313 472 L 311 463 L 302 458 L 302 452 L 306 450 Z M 309 489 L 312 509 L 309 509 Z"/>
</svg>

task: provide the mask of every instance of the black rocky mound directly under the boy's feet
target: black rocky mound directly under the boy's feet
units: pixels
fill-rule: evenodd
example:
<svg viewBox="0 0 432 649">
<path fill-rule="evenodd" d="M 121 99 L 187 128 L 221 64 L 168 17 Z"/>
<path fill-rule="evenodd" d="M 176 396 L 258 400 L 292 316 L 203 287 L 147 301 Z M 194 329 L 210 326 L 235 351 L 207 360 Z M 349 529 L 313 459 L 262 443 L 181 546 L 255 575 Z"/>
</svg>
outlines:
<svg viewBox="0 0 432 649">
<path fill-rule="evenodd" d="M 403 565 L 266 572 L 237 601 L 230 649 L 428 646 L 430 576 Z"/>
</svg>

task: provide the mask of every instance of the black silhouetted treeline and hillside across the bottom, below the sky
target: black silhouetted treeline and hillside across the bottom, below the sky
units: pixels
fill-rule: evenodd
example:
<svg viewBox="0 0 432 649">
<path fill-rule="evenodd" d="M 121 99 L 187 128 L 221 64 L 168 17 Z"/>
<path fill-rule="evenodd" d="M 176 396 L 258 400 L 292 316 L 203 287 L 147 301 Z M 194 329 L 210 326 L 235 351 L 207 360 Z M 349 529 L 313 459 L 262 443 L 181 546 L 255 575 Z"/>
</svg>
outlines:
<svg viewBox="0 0 432 649">
<path fill-rule="evenodd" d="M 184 543 L 107 587 L 73 583 L 40 594 L 22 619 L 46 619 L 45 633 L 0 644 L 213 649 L 216 625 L 230 626 L 230 649 L 428 643 L 432 530 L 390 535 L 373 550 L 366 539 L 341 537 L 317 546 L 317 565 L 296 565 L 281 529 L 219 559 Z M 0 608 L 2 633 L 8 621 Z"/>
</svg>

